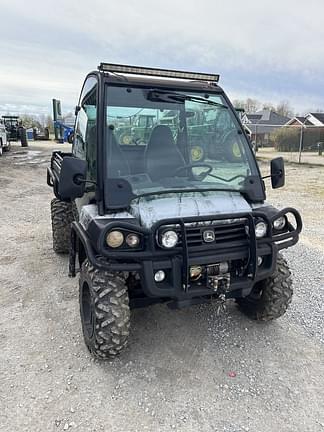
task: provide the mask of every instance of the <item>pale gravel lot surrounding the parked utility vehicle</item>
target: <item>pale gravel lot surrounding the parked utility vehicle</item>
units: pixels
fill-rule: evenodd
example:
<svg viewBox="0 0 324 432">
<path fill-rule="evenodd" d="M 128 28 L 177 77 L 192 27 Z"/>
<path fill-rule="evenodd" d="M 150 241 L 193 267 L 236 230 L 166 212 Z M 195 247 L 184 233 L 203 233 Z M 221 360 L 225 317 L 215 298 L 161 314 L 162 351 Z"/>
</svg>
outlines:
<svg viewBox="0 0 324 432">
<path fill-rule="evenodd" d="M 289 166 L 269 193 L 305 221 L 286 253 L 283 318 L 257 324 L 234 304 L 219 318 L 213 305 L 137 310 L 126 352 L 100 363 L 81 337 L 77 280 L 51 248 L 52 148 L 0 158 L 0 430 L 324 431 L 324 167 Z"/>
</svg>

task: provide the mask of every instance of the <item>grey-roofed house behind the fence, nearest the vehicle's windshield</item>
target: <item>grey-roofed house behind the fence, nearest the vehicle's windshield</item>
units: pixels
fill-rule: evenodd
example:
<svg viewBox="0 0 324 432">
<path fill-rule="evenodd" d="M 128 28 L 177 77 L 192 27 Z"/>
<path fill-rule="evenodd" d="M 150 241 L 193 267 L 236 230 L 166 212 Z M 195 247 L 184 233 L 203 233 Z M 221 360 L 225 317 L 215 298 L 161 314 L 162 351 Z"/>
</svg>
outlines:
<svg viewBox="0 0 324 432">
<path fill-rule="evenodd" d="M 271 133 L 287 124 L 289 117 L 277 114 L 272 110 L 262 110 L 253 114 L 244 113 L 242 123 L 248 126 L 252 132 L 252 141 L 258 146 L 270 146 Z"/>
</svg>

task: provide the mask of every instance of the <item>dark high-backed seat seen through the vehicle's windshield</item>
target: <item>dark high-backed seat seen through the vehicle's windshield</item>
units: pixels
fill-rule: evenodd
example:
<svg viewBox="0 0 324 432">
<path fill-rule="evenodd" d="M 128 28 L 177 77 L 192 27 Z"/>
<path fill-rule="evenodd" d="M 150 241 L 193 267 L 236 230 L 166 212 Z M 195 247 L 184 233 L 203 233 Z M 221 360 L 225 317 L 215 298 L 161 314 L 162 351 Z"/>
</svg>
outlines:
<svg viewBox="0 0 324 432">
<path fill-rule="evenodd" d="M 155 181 L 173 177 L 178 168 L 185 166 L 185 160 L 177 148 L 171 129 L 158 125 L 151 132 L 145 155 L 146 172 Z"/>
</svg>

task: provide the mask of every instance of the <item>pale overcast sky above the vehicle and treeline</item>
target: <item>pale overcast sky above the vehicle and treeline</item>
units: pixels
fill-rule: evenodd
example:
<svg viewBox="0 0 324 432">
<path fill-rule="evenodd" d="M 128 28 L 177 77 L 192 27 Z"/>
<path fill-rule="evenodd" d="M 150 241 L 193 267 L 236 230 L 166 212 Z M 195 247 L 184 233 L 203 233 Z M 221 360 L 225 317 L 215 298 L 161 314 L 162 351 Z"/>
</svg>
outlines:
<svg viewBox="0 0 324 432">
<path fill-rule="evenodd" d="M 100 61 L 216 72 L 232 99 L 324 110 L 323 0 L 0 4 L 0 111 L 69 110 Z"/>
</svg>

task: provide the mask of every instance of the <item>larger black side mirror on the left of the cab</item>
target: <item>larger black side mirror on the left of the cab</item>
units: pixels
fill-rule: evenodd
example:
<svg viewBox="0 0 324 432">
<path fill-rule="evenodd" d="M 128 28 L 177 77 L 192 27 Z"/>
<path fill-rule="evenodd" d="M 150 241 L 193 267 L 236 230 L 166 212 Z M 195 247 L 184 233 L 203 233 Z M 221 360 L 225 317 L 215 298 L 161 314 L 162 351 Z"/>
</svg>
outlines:
<svg viewBox="0 0 324 432">
<path fill-rule="evenodd" d="M 58 182 L 58 194 L 64 200 L 81 198 L 84 194 L 87 175 L 87 162 L 71 156 L 65 156 L 61 165 Z"/>
</svg>

